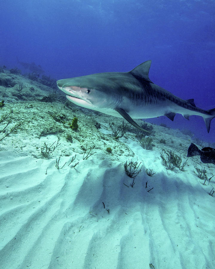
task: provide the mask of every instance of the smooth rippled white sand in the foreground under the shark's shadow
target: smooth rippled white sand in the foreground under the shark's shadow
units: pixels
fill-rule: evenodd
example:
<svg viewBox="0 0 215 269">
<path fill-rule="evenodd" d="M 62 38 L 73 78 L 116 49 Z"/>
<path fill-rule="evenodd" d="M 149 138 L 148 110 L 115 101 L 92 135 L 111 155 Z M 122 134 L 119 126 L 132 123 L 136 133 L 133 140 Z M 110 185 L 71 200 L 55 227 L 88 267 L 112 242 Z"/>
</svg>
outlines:
<svg viewBox="0 0 215 269">
<path fill-rule="evenodd" d="M 144 163 L 133 188 L 102 152 L 58 170 L 2 151 L 1 268 L 214 268 L 214 198 L 191 171 L 168 175 L 158 151 L 127 145 Z"/>
</svg>

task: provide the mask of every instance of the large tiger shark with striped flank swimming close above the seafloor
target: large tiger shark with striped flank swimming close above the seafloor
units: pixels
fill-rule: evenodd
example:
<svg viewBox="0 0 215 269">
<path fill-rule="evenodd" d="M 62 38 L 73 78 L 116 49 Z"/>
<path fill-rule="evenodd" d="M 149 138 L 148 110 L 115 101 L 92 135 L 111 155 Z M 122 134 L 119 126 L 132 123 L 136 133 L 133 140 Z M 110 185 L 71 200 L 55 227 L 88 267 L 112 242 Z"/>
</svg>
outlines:
<svg viewBox="0 0 215 269">
<path fill-rule="evenodd" d="M 102 113 L 123 117 L 137 129 L 146 131 L 133 119 L 167 116 L 173 121 L 175 114 L 186 119 L 202 116 L 207 131 L 215 117 L 215 108 L 196 107 L 193 99 L 183 100 L 154 84 L 148 77 L 151 60 L 143 62 L 129 72 L 107 72 L 57 81 L 58 88 L 72 103 Z"/>
</svg>

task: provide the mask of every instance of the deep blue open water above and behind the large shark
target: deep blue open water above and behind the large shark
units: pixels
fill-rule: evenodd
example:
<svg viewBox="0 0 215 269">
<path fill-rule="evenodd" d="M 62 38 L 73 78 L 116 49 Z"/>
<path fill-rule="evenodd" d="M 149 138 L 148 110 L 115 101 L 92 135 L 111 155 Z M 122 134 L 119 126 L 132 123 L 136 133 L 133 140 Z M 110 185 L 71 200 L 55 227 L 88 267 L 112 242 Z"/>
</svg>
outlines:
<svg viewBox="0 0 215 269">
<path fill-rule="evenodd" d="M 41 65 L 56 79 L 129 71 L 151 59 L 149 77 L 196 106 L 215 107 L 214 1 L 1 1 L 0 66 Z M 172 128 L 214 142 L 201 117 L 177 115 Z"/>
</svg>

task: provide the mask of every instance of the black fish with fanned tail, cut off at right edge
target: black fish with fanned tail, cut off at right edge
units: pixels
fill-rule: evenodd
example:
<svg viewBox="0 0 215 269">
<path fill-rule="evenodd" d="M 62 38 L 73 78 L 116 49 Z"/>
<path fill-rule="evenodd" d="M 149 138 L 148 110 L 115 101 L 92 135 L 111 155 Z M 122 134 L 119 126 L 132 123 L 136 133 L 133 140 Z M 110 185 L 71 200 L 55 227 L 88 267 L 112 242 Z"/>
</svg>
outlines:
<svg viewBox="0 0 215 269">
<path fill-rule="evenodd" d="M 191 145 L 188 148 L 187 157 L 193 157 L 197 155 L 200 155 L 200 160 L 202 161 L 202 163 L 215 164 L 215 149 L 205 147 L 200 150 L 195 144 L 191 143 Z"/>
</svg>

